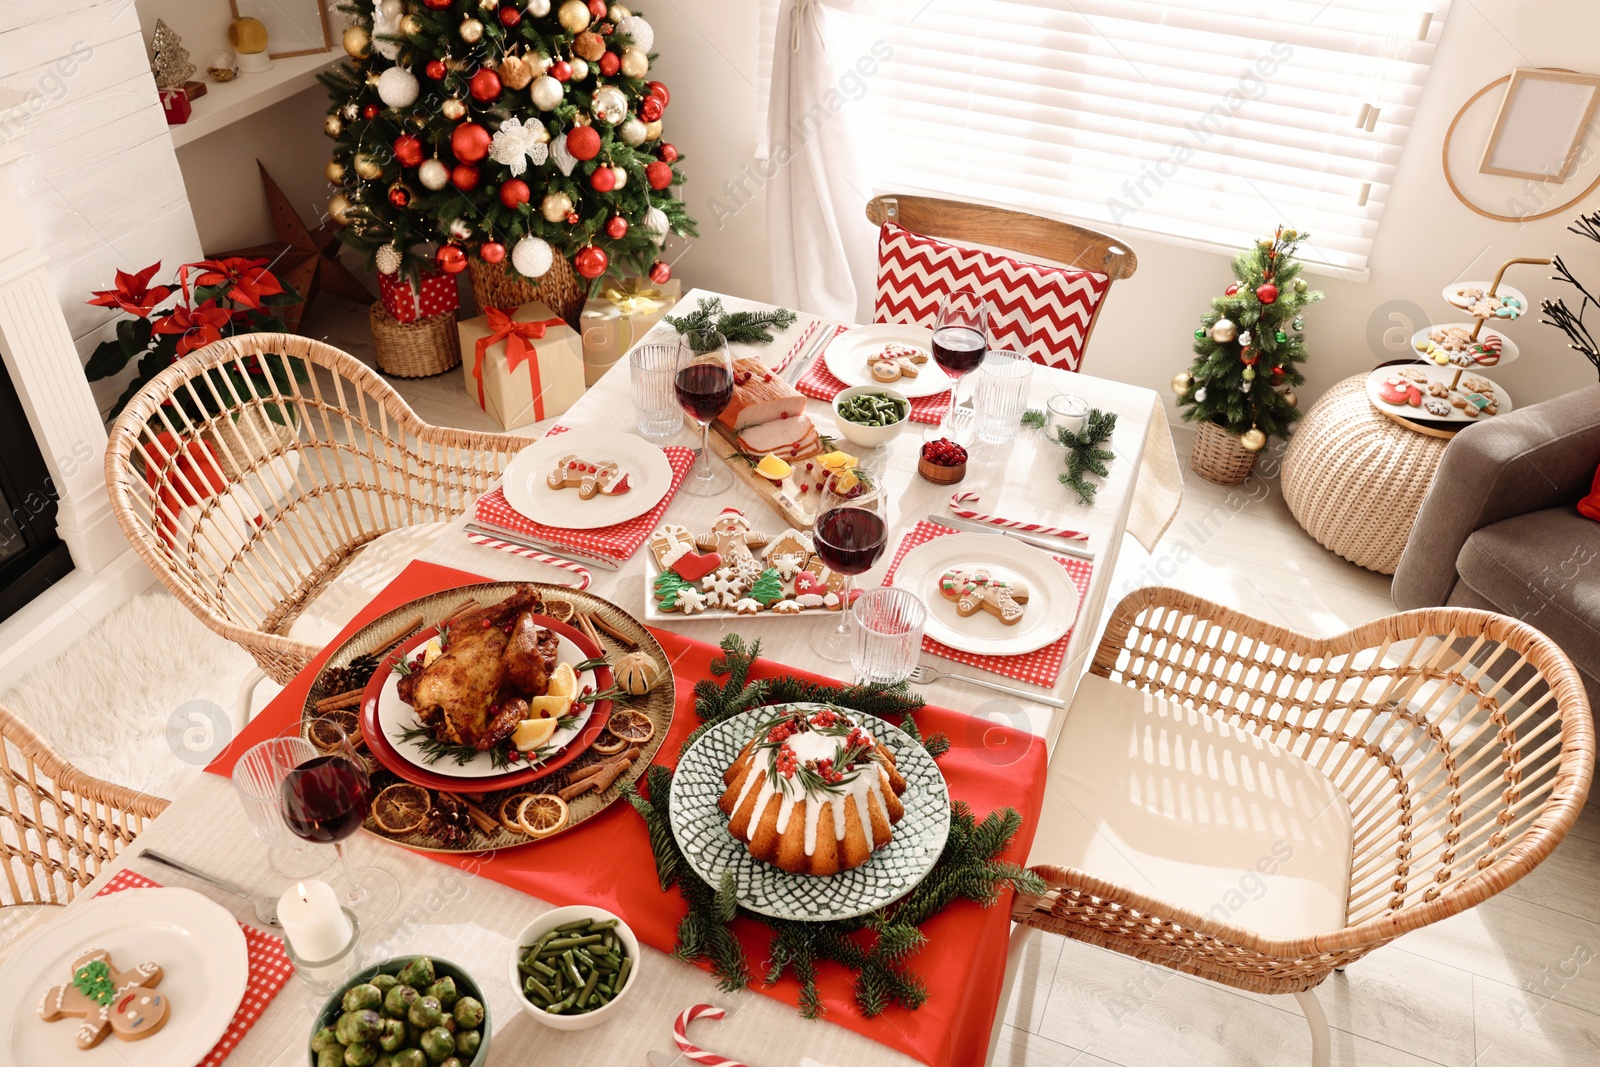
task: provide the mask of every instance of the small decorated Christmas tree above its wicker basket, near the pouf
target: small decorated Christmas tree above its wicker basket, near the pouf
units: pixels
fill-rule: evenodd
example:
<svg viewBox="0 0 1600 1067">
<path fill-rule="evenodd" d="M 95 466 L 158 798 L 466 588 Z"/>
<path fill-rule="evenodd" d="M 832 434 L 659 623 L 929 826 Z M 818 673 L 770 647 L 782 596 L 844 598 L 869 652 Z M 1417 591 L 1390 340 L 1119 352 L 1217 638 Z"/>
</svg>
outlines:
<svg viewBox="0 0 1600 1067">
<path fill-rule="evenodd" d="M 1234 256 L 1234 285 L 1211 298 L 1195 330 L 1195 360 L 1173 378 L 1189 422 L 1214 422 L 1259 451 L 1294 419 L 1294 386 L 1306 381 L 1306 320 L 1322 299 L 1299 277 L 1294 250 L 1307 235 L 1278 227 L 1267 240 Z"/>
</svg>

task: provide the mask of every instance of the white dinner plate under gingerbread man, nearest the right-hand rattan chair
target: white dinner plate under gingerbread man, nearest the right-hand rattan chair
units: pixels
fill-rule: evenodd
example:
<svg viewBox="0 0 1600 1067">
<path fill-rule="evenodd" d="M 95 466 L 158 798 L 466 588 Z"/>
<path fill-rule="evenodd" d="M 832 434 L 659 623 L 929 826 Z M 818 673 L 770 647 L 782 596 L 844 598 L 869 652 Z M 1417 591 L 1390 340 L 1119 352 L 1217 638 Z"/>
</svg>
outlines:
<svg viewBox="0 0 1600 1067">
<path fill-rule="evenodd" d="M 954 600 L 939 593 L 939 576 L 952 566 L 987 569 L 995 577 L 1027 582 L 1022 619 L 1006 625 L 987 611 L 962 617 Z M 923 633 L 979 656 L 1021 656 L 1050 645 L 1078 617 L 1078 587 L 1048 553 L 1002 534 L 955 533 L 917 545 L 894 569 L 894 584 L 928 605 Z"/>
</svg>

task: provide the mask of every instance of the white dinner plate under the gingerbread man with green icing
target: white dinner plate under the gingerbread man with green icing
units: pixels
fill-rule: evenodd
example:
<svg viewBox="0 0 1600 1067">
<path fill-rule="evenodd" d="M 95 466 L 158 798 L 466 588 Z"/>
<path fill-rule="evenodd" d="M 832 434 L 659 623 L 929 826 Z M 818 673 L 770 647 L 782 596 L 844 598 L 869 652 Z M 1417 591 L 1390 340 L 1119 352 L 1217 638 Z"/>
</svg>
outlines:
<svg viewBox="0 0 1600 1067">
<path fill-rule="evenodd" d="M 72 979 L 72 963 L 91 949 L 133 969 L 158 963 L 155 987 L 171 1005 L 166 1025 L 147 1038 L 115 1033 L 78 1051 L 77 1019 L 45 1022 L 40 998 Z M 123 889 L 74 904 L 34 931 L 0 966 L 0 1062 L 82 1067 L 190 1067 L 222 1040 L 250 984 L 245 934 L 227 909 L 190 889 Z"/>
</svg>

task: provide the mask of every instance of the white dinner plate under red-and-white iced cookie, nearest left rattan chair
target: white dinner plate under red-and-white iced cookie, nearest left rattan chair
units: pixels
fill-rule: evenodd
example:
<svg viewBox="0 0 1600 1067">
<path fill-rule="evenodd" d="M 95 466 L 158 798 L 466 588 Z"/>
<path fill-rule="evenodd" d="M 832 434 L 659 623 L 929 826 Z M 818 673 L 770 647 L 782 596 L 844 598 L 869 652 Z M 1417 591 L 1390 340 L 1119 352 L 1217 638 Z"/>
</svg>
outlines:
<svg viewBox="0 0 1600 1067">
<path fill-rule="evenodd" d="M 627 472 L 627 493 L 597 494 L 587 501 L 578 490 L 552 490 L 546 478 L 555 462 L 573 453 L 594 462 L 614 462 Z M 667 454 L 642 437 L 618 430 L 566 430 L 541 437 L 506 467 L 506 502 L 520 515 L 562 530 L 598 530 L 643 515 L 672 488 Z"/>
</svg>

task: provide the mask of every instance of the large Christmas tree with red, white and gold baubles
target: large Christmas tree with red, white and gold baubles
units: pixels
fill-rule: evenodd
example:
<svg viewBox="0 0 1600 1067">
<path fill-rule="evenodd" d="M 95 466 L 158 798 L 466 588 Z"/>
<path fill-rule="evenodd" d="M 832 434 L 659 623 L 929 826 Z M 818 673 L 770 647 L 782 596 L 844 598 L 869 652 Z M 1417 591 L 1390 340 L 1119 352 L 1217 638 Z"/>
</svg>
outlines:
<svg viewBox="0 0 1600 1067">
<path fill-rule="evenodd" d="M 530 280 L 558 261 L 590 282 L 670 278 L 661 245 L 694 222 L 670 194 L 670 93 L 648 78 L 643 18 L 606 0 L 342 10 L 350 61 L 322 78 L 328 214 L 371 269 L 458 274 L 477 256 Z"/>
</svg>

